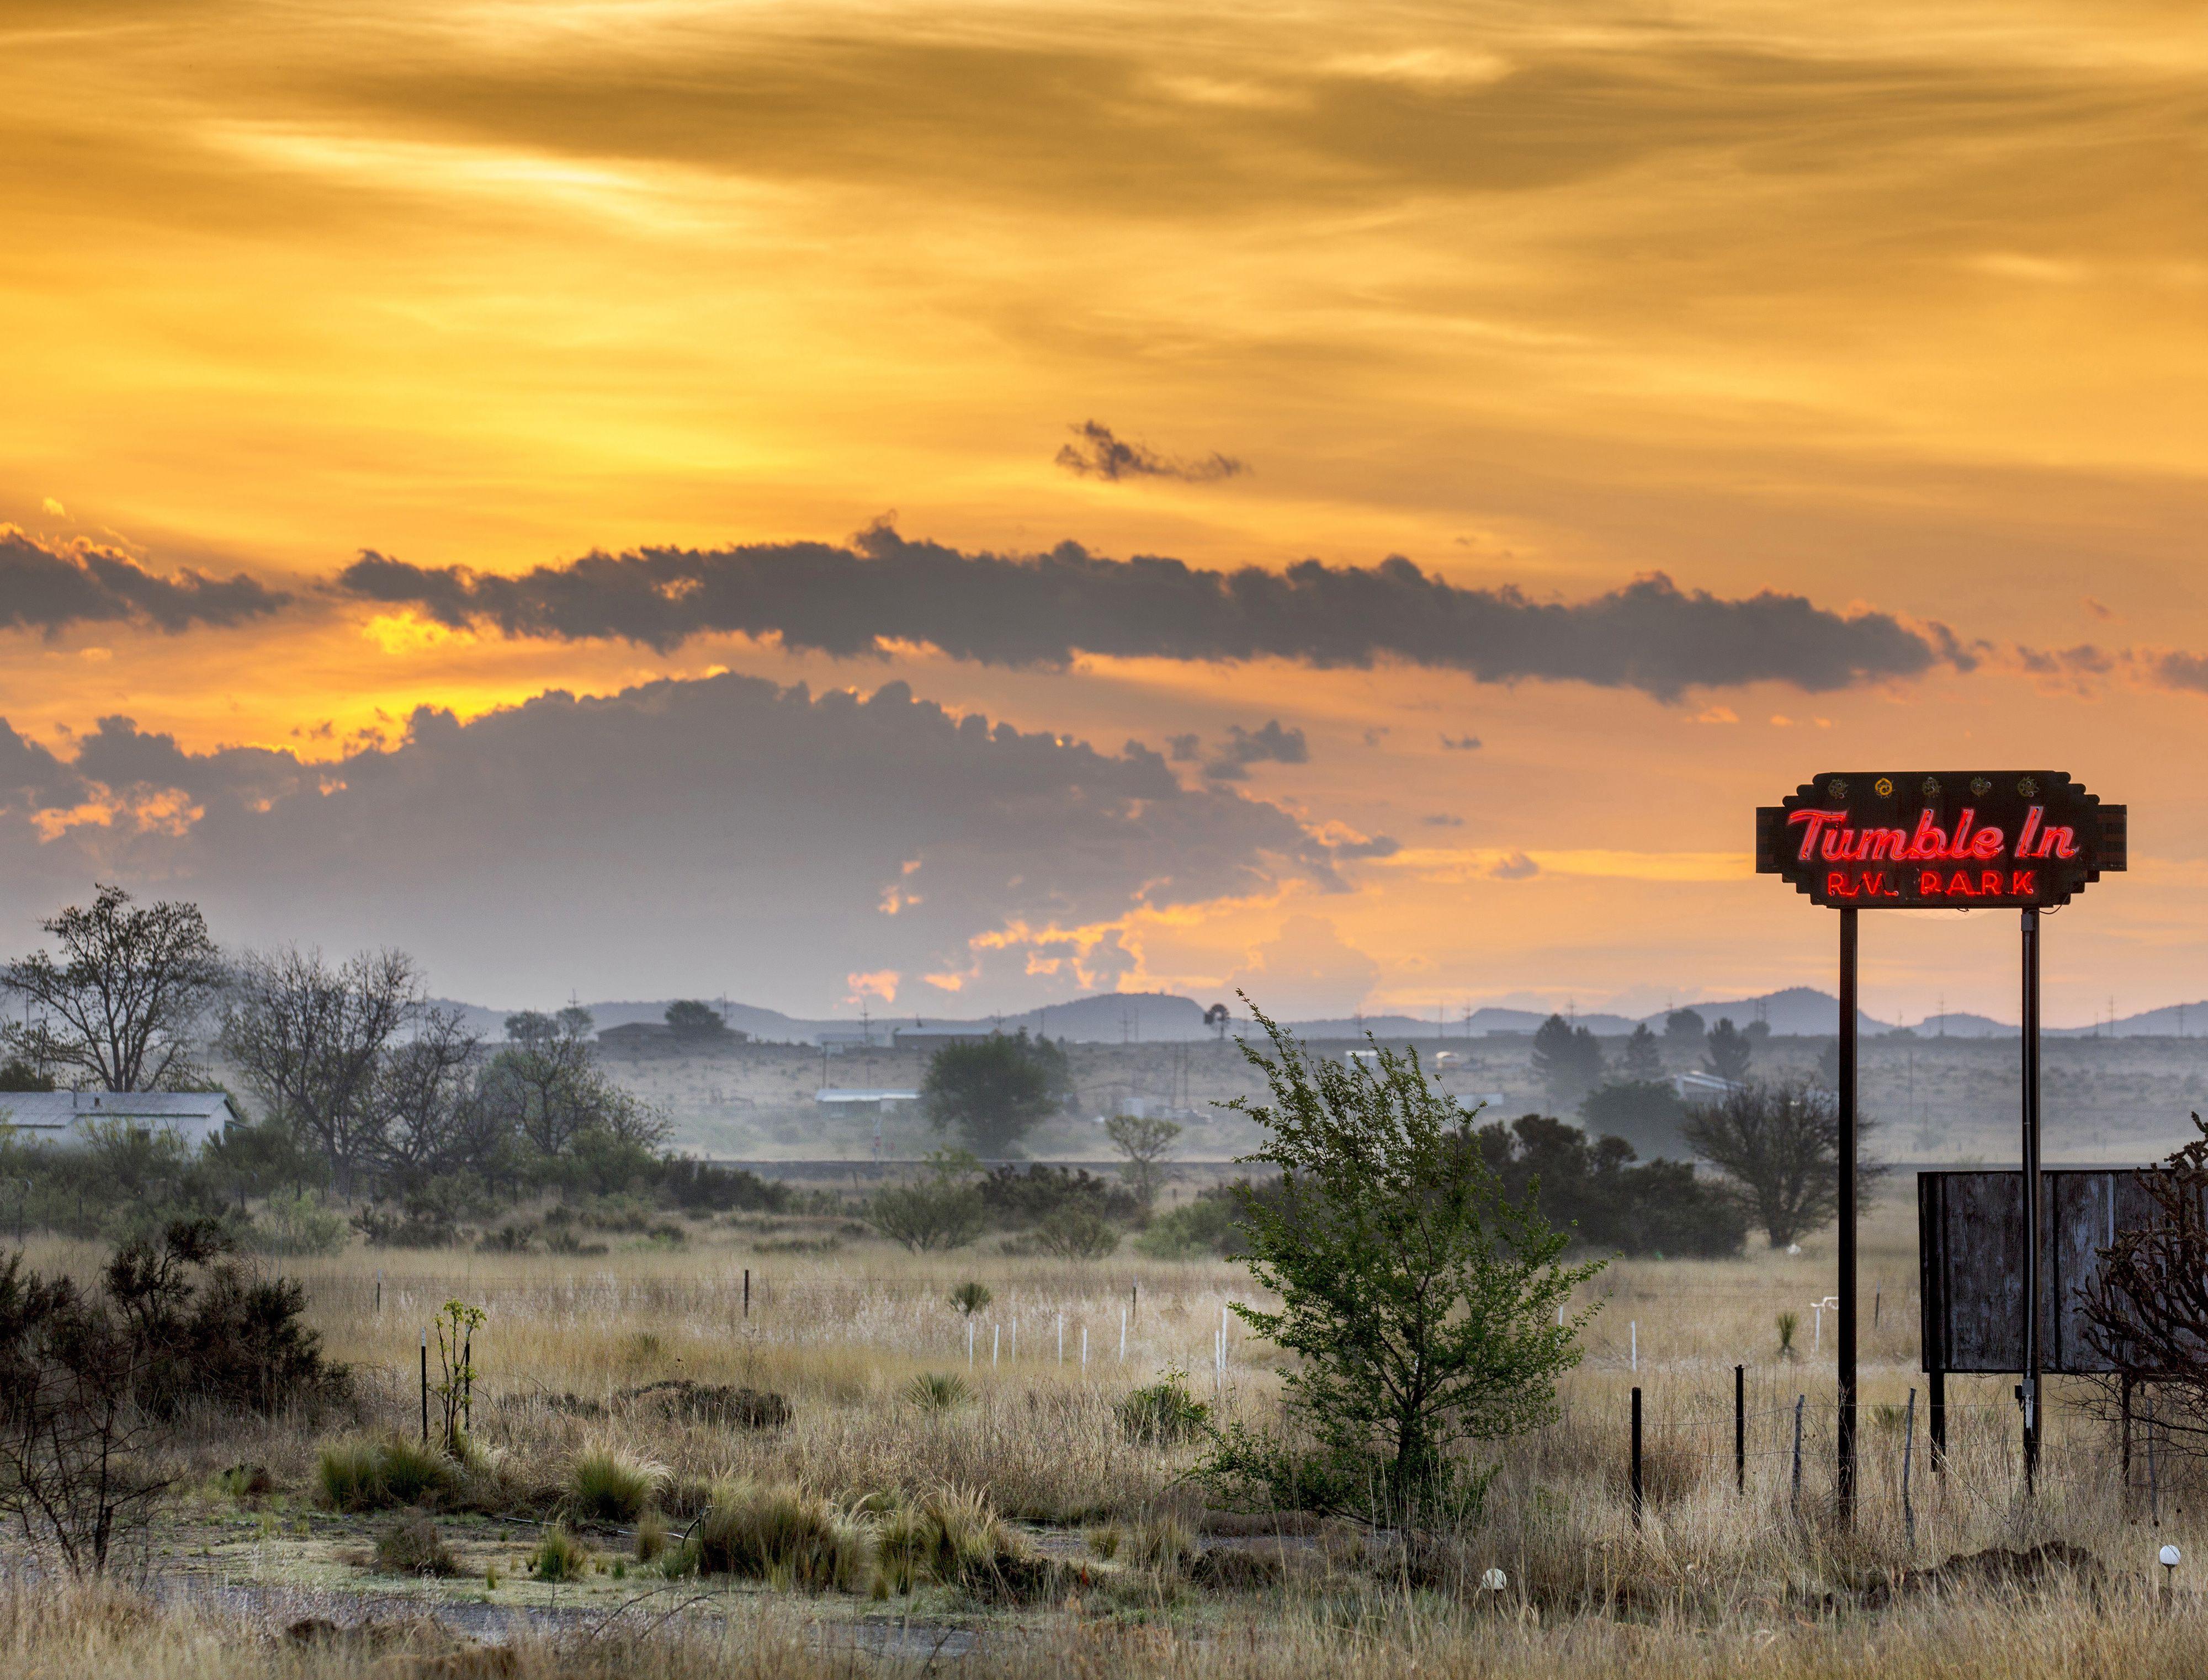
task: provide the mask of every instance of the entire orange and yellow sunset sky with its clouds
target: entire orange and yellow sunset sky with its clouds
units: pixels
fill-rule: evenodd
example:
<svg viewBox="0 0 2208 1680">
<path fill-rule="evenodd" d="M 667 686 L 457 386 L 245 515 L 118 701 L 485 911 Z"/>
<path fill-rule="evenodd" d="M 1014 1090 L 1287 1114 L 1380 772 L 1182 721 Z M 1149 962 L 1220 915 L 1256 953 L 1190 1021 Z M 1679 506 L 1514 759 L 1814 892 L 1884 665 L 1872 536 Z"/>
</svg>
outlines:
<svg viewBox="0 0 2208 1680">
<path fill-rule="evenodd" d="M 2049 1022 L 2208 991 L 2193 4 L 0 49 L 7 949 L 115 879 L 501 1007 L 1641 1013 L 1833 985 L 1753 806 L 1983 764 L 2131 806 Z M 1866 927 L 1877 1016 L 2011 991 Z"/>
</svg>

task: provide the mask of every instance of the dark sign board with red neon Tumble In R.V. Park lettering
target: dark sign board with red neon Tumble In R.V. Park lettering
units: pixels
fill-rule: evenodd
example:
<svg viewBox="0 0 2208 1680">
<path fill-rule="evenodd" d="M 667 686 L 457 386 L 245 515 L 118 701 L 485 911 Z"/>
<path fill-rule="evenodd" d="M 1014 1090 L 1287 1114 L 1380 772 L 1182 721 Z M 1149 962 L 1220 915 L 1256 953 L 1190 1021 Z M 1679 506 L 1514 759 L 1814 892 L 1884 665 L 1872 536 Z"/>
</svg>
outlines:
<svg viewBox="0 0 2208 1680">
<path fill-rule="evenodd" d="M 1755 870 L 1846 910 L 2045 910 L 2124 868 L 2124 819 L 2060 770 L 1844 770 L 1755 810 Z"/>
</svg>

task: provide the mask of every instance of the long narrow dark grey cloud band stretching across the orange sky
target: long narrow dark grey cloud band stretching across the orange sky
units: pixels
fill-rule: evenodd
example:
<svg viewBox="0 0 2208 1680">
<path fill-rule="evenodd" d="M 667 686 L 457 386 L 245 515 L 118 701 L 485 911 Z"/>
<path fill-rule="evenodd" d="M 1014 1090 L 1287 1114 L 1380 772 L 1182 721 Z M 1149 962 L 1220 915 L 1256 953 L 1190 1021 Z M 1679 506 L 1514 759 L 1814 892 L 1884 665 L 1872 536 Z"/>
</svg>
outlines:
<svg viewBox="0 0 2208 1680">
<path fill-rule="evenodd" d="M 1049 554 L 967 554 L 874 528 L 848 547 L 757 543 L 585 554 L 521 576 L 422 567 L 362 554 L 338 589 L 508 636 L 625 638 L 669 649 L 689 636 L 779 636 L 841 658 L 921 640 L 987 664 L 1062 664 L 1075 653 L 1177 660 L 1376 660 L 1466 671 L 1482 682 L 1552 678 L 1674 700 L 1694 687 L 1782 680 L 1839 689 L 1919 676 L 1972 656 L 1941 627 L 1837 614 L 1804 596 L 1727 600 L 1638 578 L 1577 603 L 1515 587 L 1459 589 L 1393 556 L 1303 561 L 1287 572 L 1206 572 L 1075 543 Z"/>
</svg>

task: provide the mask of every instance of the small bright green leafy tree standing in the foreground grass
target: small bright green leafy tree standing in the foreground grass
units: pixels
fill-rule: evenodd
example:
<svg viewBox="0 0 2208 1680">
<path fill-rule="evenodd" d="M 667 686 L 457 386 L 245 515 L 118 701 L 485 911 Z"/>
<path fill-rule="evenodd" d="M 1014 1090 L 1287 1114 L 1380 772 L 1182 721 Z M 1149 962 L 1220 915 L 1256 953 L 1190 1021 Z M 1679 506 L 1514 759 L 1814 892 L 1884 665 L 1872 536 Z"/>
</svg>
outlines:
<svg viewBox="0 0 2208 1680">
<path fill-rule="evenodd" d="M 1453 1448 L 1557 1415 L 1592 1316 L 1559 1322 L 1559 1307 L 1603 1263 L 1559 1263 L 1570 1238 L 1532 1192 L 1504 1194 L 1473 1113 L 1426 1082 L 1418 1051 L 1316 1060 L 1252 1013 L 1272 1055 L 1243 1055 L 1270 1102 L 1230 1106 L 1267 1133 L 1243 1159 L 1281 1172 L 1276 1197 L 1241 1197 L 1250 1272 L 1281 1309 L 1234 1311 L 1296 1355 L 1283 1397 L 1316 1450 L 1236 1426 L 1208 1470 L 1318 1510 L 1462 1508 L 1477 1484 Z"/>
</svg>

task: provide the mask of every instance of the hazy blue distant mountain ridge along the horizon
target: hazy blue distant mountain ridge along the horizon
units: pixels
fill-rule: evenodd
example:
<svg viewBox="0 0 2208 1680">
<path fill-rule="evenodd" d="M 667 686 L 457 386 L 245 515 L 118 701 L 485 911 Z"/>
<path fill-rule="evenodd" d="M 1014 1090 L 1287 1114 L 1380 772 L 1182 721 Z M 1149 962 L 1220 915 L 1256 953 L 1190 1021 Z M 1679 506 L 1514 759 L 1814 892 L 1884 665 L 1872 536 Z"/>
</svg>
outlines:
<svg viewBox="0 0 2208 1680">
<path fill-rule="evenodd" d="M 468 1027 L 484 1038 L 501 1038 L 506 1033 L 506 1016 L 510 1011 L 486 1009 L 484 1004 L 470 1004 L 453 998 L 439 998 L 435 1002 L 444 1009 L 457 1009 Z M 662 1020 L 667 1016 L 667 1002 L 669 1000 L 665 998 L 656 1002 L 612 1000 L 583 1007 L 590 1009 L 592 1022 L 598 1031 L 605 1031 L 607 1027 Z M 1047 1033 L 1049 1038 L 1064 1038 L 1075 1044 L 1181 1044 L 1212 1035 L 1212 1029 L 1203 1024 L 1206 1007 L 1195 998 L 1181 998 L 1170 991 L 1100 991 L 1089 998 L 1071 998 L 1062 1004 L 1044 1004 L 1013 1016 L 978 1018 L 885 1011 L 881 1016 L 866 1018 L 832 1016 L 826 1020 L 808 1020 L 802 1016 L 784 1016 L 779 1009 L 762 1009 L 746 1002 L 729 1002 L 720 998 L 709 998 L 707 1002 L 720 1009 L 722 1018 L 735 1031 L 779 1044 L 817 1044 L 821 1033 L 850 1033 L 861 1027 L 861 1020 L 872 1031 L 877 1044 L 890 1044 L 899 1027 L 1002 1027 L 1007 1033 L 1027 1029 L 1029 1033 Z M 1839 998 L 1830 991 L 1817 991 L 1815 987 L 1786 987 L 1782 991 L 1769 991 L 1762 998 L 1682 1002 L 1674 1004 L 1674 1009 L 1691 1009 L 1707 1027 L 1716 1027 L 1720 1020 L 1731 1020 L 1735 1027 L 1749 1027 L 1760 1020 L 1782 1038 L 1826 1038 L 1839 1031 Z M 1658 1009 L 1656 1013 L 1638 1020 L 1612 1013 L 1572 1016 L 1570 1020 L 1574 1027 L 1585 1027 L 1596 1038 L 1623 1038 L 1625 1033 L 1632 1033 L 1636 1024 L 1647 1024 L 1649 1031 L 1660 1033 L 1665 1016 L 1669 1013 L 1669 1009 Z M 1323 1016 L 1314 1020 L 1289 1020 L 1283 1022 L 1283 1027 L 1294 1031 L 1298 1038 L 1345 1040 L 1371 1033 L 1373 1038 L 1391 1044 L 1424 1044 L 1484 1038 L 1488 1033 L 1532 1033 L 1543 1020 L 1548 1020 L 1548 1013 L 1539 1009 L 1486 1007 L 1475 1009 L 1471 1018 L 1459 1013 L 1440 1022 L 1431 1016 L 1387 1013 Z M 1252 1024 L 1245 1018 L 1236 1018 L 1230 1031 L 1248 1033 L 1252 1031 Z M 1899 1031 L 1899 1027 L 1897 1022 L 1857 1013 L 1857 1031 L 1892 1033 Z M 2011 1022 L 1965 1011 L 1928 1016 L 1910 1027 L 1910 1031 L 1917 1033 L 1917 1038 L 2016 1038 L 2016 1027 Z M 2047 1027 L 2045 1033 L 2047 1038 L 2208 1035 L 2208 1002 L 2164 1004 L 2159 1009 L 2140 1011 L 2137 1016 L 2124 1016 L 2115 1022 L 2100 1022 L 2098 1027 Z"/>
</svg>

